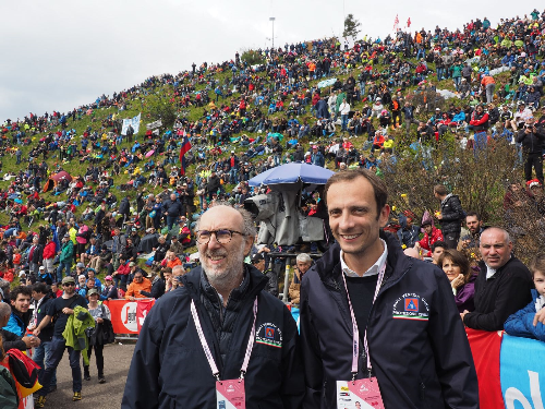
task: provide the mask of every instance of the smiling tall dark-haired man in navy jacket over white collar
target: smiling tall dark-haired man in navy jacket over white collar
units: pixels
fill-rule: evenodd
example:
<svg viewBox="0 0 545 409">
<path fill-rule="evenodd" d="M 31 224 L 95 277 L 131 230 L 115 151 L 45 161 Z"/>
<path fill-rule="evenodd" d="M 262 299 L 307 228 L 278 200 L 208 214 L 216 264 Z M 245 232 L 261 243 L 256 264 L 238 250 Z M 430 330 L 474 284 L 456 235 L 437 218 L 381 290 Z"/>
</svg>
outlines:
<svg viewBox="0 0 545 409">
<path fill-rule="evenodd" d="M 325 197 L 338 243 L 303 277 L 303 407 L 336 408 L 336 381 L 352 378 L 348 291 L 360 333 L 354 375 L 368 376 L 366 332 L 386 409 L 479 408 L 473 358 L 445 273 L 407 257 L 395 237 L 380 232 L 390 213 L 385 183 L 363 169 L 339 172 Z"/>
</svg>

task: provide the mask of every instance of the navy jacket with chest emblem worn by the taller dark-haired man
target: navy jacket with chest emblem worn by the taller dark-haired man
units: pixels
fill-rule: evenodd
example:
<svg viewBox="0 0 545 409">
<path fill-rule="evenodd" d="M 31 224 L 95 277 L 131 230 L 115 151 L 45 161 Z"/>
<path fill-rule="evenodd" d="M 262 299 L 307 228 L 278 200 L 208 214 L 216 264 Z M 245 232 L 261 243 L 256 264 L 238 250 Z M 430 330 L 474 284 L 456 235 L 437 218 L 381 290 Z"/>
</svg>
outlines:
<svg viewBox="0 0 545 409">
<path fill-rule="evenodd" d="M 405 256 L 393 236 L 382 237 L 388 260 L 367 337 L 385 408 L 479 408 L 473 357 L 445 273 Z M 303 277 L 306 409 L 336 408 L 336 381 L 351 380 L 352 321 L 341 274 L 336 243 Z M 363 334 L 356 378 L 366 376 Z"/>
</svg>

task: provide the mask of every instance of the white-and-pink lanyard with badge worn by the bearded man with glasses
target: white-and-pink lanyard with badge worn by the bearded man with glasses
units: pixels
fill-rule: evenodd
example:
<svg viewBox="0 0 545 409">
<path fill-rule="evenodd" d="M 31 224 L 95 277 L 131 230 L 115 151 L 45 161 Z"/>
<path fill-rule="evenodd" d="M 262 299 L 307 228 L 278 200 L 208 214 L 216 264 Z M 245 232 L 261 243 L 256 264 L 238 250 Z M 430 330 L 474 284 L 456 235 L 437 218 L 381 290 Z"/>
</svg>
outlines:
<svg viewBox="0 0 545 409">
<path fill-rule="evenodd" d="M 250 362 L 250 356 L 252 354 L 252 349 L 254 348 L 255 340 L 255 321 L 257 318 L 257 297 L 254 300 L 254 324 L 252 325 L 252 332 L 250 333 L 250 339 L 247 340 L 246 353 L 244 356 L 244 362 L 240 370 L 240 377 L 238 380 L 225 380 L 220 381 L 218 366 L 208 347 L 208 342 L 203 333 L 203 327 L 201 326 L 201 320 L 198 318 L 197 310 L 193 300 L 191 301 L 191 313 L 193 315 L 193 321 L 197 328 L 198 338 L 201 339 L 201 345 L 203 346 L 206 359 L 210 365 L 211 373 L 216 377 L 216 409 L 246 409 L 246 393 L 244 389 L 244 375 L 246 374 L 247 364 Z"/>
</svg>

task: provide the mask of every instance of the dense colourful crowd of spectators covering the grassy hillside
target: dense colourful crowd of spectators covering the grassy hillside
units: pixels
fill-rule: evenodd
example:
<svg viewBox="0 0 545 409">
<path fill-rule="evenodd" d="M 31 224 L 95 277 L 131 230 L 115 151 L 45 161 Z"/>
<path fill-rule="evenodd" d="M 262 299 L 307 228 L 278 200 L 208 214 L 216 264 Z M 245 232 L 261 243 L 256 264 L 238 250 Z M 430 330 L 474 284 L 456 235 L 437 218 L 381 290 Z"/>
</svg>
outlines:
<svg viewBox="0 0 545 409">
<path fill-rule="evenodd" d="M 101 301 L 157 299 L 174 290 L 180 276 L 194 266 L 191 250 L 198 217 L 217 202 L 242 207 L 246 199 L 265 193 L 266 188 L 247 184 L 254 176 L 290 161 L 380 175 L 384 166 L 396 163 L 403 134 L 432 148 L 450 133 L 473 149 L 491 139 L 507 139 L 513 155 L 525 163 L 524 178 L 533 183 L 529 189 L 543 187 L 545 12 L 502 19 L 496 27 L 485 17 L 463 29 L 364 37 L 352 48 L 329 38 L 257 52 L 262 61 L 254 65 L 237 53 L 219 64 L 152 76 L 70 112 L 5 121 L 0 147 L 26 166 L 3 169 L 3 179 L 10 181 L 0 192 L 0 207 L 10 215 L 0 242 L 3 280 L 19 277 L 35 302 L 40 294 L 61 296 L 71 277 L 75 293 L 92 301 L 94 318 L 107 318 L 108 312 L 98 313 Z M 330 85 L 319 85 L 331 77 Z M 181 112 L 172 127 L 137 134 L 129 129 L 122 135 L 124 111 L 157 91 L 166 91 Z M 102 108 L 112 107 L 114 113 L 100 118 Z M 190 110 L 198 111 L 199 119 L 187 119 L 183 113 Z M 75 124 L 84 118 L 90 118 L 89 125 L 78 135 Z M 185 136 L 193 148 L 180 166 L 178 152 Z M 85 164 L 85 173 L 51 182 L 51 175 L 73 164 Z M 191 172 L 189 165 L 194 165 Z M 124 183 L 117 183 L 120 176 Z M 43 193 L 49 183 L 48 197 L 53 200 Z M 440 189 L 435 193 L 443 212 L 452 196 Z M 514 193 L 509 197 L 516 201 Z M 319 194 L 306 192 L 302 212 L 313 216 L 323 204 Z M 470 313 L 464 323 L 480 321 L 471 312 L 472 288 L 483 270 L 476 250 L 482 231 L 481 225 L 479 231 L 470 227 L 479 216 L 437 218 L 438 229 L 427 215 L 422 239 L 412 213 L 399 217 L 395 232 L 401 244 L 441 266 L 460 313 Z M 249 261 L 269 277 L 267 291 L 278 296 L 275 280 L 281 267 L 267 256 L 271 250 L 286 251 L 255 245 Z M 311 265 L 308 256 L 298 256 L 289 288 L 294 305 Z M 541 264 L 535 265 L 534 279 L 543 276 Z M 0 288 L 0 296 L 10 300 L 10 286 Z M 17 291 L 17 297 L 28 292 Z M 31 316 L 22 322 L 28 326 Z M 36 347 L 24 332 L 19 335 L 21 340 L 4 341 L 4 347 Z M 99 360 L 100 348 L 94 350 Z M 48 382 L 53 390 L 55 377 L 48 375 Z"/>
</svg>

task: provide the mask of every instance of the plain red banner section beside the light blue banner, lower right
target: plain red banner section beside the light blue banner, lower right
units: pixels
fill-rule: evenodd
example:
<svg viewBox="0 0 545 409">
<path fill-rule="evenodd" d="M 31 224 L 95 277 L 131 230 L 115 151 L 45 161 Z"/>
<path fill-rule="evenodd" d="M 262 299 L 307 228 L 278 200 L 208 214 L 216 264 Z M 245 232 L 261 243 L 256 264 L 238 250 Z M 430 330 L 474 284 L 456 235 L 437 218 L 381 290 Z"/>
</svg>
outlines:
<svg viewBox="0 0 545 409">
<path fill-rule="evenodd" d="M 499 352 L 502 332 L 465 328 L 479 380 L 481 408 L 505 408 L 499 380 Z"/>
</svg>

